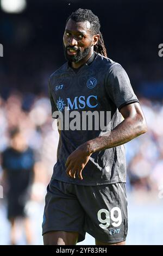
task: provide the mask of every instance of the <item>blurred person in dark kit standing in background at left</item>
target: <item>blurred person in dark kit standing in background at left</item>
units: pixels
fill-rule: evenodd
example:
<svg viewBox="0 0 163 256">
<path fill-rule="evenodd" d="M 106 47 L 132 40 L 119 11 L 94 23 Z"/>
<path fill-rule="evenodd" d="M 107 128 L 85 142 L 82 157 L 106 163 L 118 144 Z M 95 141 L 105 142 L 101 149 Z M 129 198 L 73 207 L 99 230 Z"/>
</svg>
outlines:
<svg viewBox="0 0 163 256">
<path fill-rule="evenodd" d="M 33 182 L 34 153 L 23 133 L 16 127 L 10 131 L 10 146 L 1 155 L 3 182 L 7 184 L 8 220 L 11 245 L 16 245 L 16 220 L 23 219 L 27 245 L 32 244 L 32 228 L 25 206 L 30 199 Z"/>
</svg>

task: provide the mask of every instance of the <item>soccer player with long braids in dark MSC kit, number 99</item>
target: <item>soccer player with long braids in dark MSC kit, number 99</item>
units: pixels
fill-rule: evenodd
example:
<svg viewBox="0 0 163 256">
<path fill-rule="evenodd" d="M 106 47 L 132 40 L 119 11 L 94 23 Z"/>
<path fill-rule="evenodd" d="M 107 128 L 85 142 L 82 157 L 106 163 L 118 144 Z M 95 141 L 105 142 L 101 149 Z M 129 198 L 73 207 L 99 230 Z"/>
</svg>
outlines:
<svg viewBox="0 0 163 256">
<path fill-rule="evenodd" d="M 43 241 L 76 245 L 87 232 L 96 245 L 124 245 L 128 218 L 123 144 L 147 131 L 146 120 L 126 71 L 106 56 L 99 19 L 91 10 L 78 9 L 68 17 L 63 40 L 67 62 L 49 78 L 52 113 L 62 113 L 64 125 L 47 187 Z M 108 111 L 110 131 L 95 129 L 97 118 L 94 129 L 84 121 L 80 127 L 86 128 L 79 129 L 79 118 L 73 129 L 72 117 L 84 111 L 99 116 Z"/>
</svg>

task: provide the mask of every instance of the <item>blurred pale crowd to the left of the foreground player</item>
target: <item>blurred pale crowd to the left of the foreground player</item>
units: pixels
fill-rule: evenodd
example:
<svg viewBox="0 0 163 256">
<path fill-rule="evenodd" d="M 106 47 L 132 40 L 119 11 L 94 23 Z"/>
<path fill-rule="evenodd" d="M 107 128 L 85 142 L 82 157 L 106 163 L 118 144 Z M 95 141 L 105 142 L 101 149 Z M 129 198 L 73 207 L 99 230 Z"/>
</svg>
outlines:
<svg viewBox="0 0 163 256">
<path fill-rule="evenodd" d="M 57 123 L 51 117 L 48 97 L 29 99 L 31 106 L 28 111 L 23 108 L 23 100 L 23 96 L 17 92 L 13 92 L 7 100 L 0 98 L 0 151 L 3 152 L 10 145 L 9 132 L 18 127 L 34 151 L 34 182 L 46 185 L 57 159 Z M 40 197 L 39 194 L 35 196 Z"/>
</svg>

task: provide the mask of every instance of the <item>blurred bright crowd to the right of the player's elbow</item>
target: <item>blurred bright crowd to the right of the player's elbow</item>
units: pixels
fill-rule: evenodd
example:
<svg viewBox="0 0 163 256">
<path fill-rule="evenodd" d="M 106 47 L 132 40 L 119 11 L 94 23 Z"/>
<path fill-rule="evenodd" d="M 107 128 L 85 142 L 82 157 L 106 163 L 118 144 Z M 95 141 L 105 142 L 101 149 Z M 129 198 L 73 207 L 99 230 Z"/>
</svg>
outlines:
<svg viewBox="0 0 163 256">
<path fill-rule="evenodd" d="M 148 132 L 126 144 L 130 189 L 161 190 L 163 185 L 162 102 L 140 99 Z"/>
</svg>

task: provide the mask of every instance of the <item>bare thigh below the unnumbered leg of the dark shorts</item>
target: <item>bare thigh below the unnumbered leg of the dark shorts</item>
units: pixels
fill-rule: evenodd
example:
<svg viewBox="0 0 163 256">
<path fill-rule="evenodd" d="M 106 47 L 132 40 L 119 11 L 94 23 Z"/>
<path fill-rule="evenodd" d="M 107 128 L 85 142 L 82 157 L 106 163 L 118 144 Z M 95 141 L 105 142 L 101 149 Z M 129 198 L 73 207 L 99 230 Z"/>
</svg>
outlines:
<svg viewBox="0 0 163 256">
<path fill-rule="evenodd" d="M 77 232 L 49 231 L 43 235 L 44 245 L 76 245 Z"/>
</svg>

